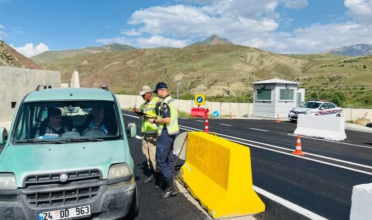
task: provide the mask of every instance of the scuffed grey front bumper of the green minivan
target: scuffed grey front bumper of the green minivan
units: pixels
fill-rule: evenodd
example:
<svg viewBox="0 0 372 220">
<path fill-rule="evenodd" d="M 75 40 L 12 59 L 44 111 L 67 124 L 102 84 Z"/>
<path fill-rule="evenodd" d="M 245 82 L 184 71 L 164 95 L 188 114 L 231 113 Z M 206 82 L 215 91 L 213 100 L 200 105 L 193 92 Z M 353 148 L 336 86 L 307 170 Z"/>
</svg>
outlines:
<svg viewBox="0 0 372 220">
<path fill-rule="evenodd" d="M 101 185 L 99 186 L 97 196 L 89 202 L 78 202 L 73 205 L 65 204 L 59 207 L 51 206 L 46 208 L 31 205 L 28 202 L 29 198 L 27 198 L 26 194 L 22 194 L 22 191 L 14 191 L 18 194 L 14 197 L 14 201 L 9 201 L 12 200 L 9 199 L 11 198 L 10 195 L 1 195 L 2 193 L 0 192 L 0 219 L 38 220 L 38 212 L 68 209 L 84 205 L 91 206 L 92 216 L 89 219 L 112 220 L 124 218 L 130 210 L 132 200 L 135 196 L 135 188 L 135 183 L 113 190 L 108 190 L 108 185 Z"/>
</svg>

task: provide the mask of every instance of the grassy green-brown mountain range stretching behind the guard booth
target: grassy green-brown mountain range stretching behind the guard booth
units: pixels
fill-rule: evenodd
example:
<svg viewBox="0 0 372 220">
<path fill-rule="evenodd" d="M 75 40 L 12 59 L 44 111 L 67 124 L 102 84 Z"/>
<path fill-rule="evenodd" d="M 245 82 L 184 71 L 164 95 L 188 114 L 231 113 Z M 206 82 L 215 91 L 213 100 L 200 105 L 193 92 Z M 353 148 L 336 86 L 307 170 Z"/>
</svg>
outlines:
<svg viewBox="0 0 372 220">
<path fill-rule="evenodd" d="M 9 66 L 9 60 L 1 63 L 1 56 L 7 57 L 7 51 L 14 49 L 3 44 L 8 49 L 0 52 L 0 65 Z M 361 48 L 364 47 L 354 49 Z M 338 52 L 342 54 L 343 50 L 347 51 L 344 47 Z M 34 67 L 60 71 L 63 82 L 70 82 L 72 72 L 77 70 L 82 87 L 107 85 L 119 94 L 138 94 L 141 86 L 154 87 L 160 81 L 166 82 L 174 92 L 176 81 L 179 81 L 180 98 L 196 93 L 207 97 L 252 97 L 252 82 L 280 78 L 301 82 L 300 86 L 306 88 L 308 96 L 325 97 L 327 92 L 341 91 L 352 103 L 371 94 L 366 85 L 372 85 L 371 55 L 277 54 L 232 44 L 217 35 L 183 48 L 108 44 L 48 51 L 31 59 L 46 61 L 35 64 L 22 59 L 23 63 L 16 64 L 14 62 L 20 60 L 17 58 L 12 65 L 27 68 L 30 65 L 24 64 L 33 64 L 37 65 Z"/>
</svg>

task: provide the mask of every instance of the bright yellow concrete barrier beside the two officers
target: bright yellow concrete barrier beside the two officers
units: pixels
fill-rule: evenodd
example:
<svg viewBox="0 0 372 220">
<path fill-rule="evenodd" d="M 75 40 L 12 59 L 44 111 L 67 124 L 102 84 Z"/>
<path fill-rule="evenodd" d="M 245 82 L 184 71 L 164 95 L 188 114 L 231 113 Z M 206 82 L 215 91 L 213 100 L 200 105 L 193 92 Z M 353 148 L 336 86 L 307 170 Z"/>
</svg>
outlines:
<svg viewBox="0 0 372 220">
<path fill-rule="evenodd" d="M 206 132 L 188 132 L 186 161 L 177 179 L 214 219 L 265 211 L 253 190 L 246 146 Z"/>
</svg>

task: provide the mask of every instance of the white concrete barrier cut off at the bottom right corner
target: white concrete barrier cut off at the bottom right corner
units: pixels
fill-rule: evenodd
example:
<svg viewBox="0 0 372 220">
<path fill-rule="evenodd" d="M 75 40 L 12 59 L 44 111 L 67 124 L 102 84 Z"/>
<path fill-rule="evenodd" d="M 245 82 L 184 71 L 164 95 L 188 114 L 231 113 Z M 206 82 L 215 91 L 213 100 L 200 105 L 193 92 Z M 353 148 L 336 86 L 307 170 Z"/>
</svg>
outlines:
<svg viewBox="0 0 372 220">
<path fill-rule="evenodd" d="M 350 220 L 372 219 L 372 183 L 352 187 Z"/>
</svg>

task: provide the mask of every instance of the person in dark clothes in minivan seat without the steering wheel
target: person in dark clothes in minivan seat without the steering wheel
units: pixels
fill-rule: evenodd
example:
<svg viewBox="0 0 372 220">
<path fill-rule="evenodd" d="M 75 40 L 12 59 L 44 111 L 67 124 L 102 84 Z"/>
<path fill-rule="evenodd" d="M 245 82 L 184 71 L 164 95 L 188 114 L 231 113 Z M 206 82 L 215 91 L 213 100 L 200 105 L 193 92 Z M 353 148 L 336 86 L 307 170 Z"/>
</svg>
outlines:
<svg viewBox="0 0 372 220">
<path fill-rule="evenodd" d="M 69 132 L 69 129 L 61 125 L 62 111 L 57 108 L 48 109 L 48 116 L 44 120 L 38 131 L 35 134 L 35 138 L 42 139 L 44 136 L 48 137 L 61 137 L 65 132 Z"/>
</svg>

